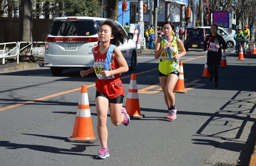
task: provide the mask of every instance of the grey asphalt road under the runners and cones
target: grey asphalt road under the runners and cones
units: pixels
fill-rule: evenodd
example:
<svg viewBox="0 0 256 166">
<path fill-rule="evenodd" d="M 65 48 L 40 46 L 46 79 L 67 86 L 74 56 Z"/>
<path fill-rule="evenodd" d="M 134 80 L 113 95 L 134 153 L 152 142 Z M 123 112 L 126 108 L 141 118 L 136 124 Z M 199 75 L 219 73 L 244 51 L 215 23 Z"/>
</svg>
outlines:
<svg viewBox="0 0 256 166">
<path fill-rule="evenodd" d="M 183 61 L 187 93 L 175 94 L 177 119 L 170 122 L 153 54 L 138 57 L 137 69 L 122 74 L 125 94 L 137 73 L 140 112 L 129 126 L 108 117 L 110 157 L 95 160 L 96 143 L 71 143 L 79 90 L 88 86 L 96 132 L 94 74 L 79 69 L 53 77 L 48 68 L 0 74 L 0 160 L 3 166 L 246 166 L 255 144 L 256 55 L 238 61 L 227 49 L 228 68 L 219 69 L 220 89 L 202 78 L 206 52 L 188 52 Z M 126 97 L 124 102 L 126 101 Z M 124 103 L 125 105 L 125 103 Z"/>
</svg>

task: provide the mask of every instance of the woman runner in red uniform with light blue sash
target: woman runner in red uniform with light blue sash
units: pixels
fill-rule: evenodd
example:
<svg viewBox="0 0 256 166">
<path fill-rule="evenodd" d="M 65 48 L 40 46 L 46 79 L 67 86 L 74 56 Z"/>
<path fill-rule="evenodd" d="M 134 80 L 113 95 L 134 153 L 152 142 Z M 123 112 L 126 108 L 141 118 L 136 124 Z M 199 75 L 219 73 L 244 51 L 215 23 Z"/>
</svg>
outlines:
<svg viewBox="0 0 256 166">
<path fill-rule="evenodd" d="M 99 45 L 92 49 L 94 56 L 93 67 L 80 72 L 81 77 L 95 72 L 96 80 L 96 111 L 98 116 L 97 132 L 101 143 L 101 150 L 96 158 L 109 157 L 107 117 L 110 107 L 111 122 L 118 126 L 127 126 L 130 117 L 122 107 L 125 96 L 124 87 L 120 80 L 121 73 L 128 71 L 128 65 L 122 52 L 116 47 L 124 43 L 127 34 L 119 29 L 113 19 L 101 23 L 98 31 Z"/>
</svg>

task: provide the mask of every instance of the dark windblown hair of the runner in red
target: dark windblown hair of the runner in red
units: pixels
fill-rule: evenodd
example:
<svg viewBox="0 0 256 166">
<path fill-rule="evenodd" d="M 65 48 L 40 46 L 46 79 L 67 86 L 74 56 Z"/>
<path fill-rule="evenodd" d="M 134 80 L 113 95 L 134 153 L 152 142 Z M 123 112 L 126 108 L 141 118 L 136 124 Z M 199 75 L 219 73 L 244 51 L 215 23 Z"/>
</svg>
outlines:
<svg viewBox="0 0 256 166">
<path fill-rule="evenodd" d="M 118 26 L 117 23 L 115 23 L 112 18 L 102 21 L 100 27 L 103 25 L 108 25 L 111 27 L 111 34 L 114 36 L 114 38 L 110 40 L 111 44 L 120 46 L 121 43 L 125 43 L 125 40 L 128 38 L 127 34 L 123 29 L 121 29 L 121 27 Z"/>
</svg>

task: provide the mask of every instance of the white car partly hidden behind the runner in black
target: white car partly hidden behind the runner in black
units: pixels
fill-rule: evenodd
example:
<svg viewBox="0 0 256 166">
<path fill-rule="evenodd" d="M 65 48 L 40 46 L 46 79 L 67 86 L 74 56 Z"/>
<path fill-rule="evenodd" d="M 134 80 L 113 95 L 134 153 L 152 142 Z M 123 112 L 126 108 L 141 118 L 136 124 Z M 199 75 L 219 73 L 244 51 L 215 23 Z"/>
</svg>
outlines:
<svg viewBox="0 0 256 166">
<path fill-rule="evenodd" d="M 210 26 L 201 26 L 198 28 L 204 28 L 206 35 L 211 34 Z M 227 43 L 227 48 L 232 48 L 235 45 L 236 41 L 234 40 L 234 37 L 227 31 L 225 31 L 222 27 L 218 27 L 217 33 L 223 37 L 223 39 Z"/>
</svg>

